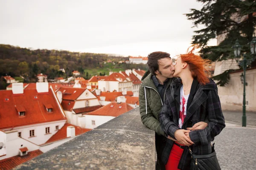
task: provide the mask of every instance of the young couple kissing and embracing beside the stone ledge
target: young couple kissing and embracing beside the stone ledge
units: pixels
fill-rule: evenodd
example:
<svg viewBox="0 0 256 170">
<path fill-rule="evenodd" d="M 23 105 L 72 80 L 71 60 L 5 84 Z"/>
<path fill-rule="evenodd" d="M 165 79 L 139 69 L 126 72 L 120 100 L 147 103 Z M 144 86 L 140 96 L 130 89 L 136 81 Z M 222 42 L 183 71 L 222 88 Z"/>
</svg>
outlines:
<svg viewBox="0 0 256 170">
<path fill-rule="evenodd" d="M 160 51 L 148 55 L 140 115 L 156 132 L 159 170 L 189 170 L 189 148 L 197 155 L 212 153 L 211 142 L 225 127 L 217 85 L 204 68 L 209 62 L 195 48 L 175 60 Z"/>
</svg>

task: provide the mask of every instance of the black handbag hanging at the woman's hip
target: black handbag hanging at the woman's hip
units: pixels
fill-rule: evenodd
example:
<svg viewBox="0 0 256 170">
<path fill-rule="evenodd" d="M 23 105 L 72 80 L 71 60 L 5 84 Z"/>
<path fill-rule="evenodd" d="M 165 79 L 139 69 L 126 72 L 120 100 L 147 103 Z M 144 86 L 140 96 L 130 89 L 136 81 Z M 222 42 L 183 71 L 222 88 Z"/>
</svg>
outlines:
<svg viewBox="0 0 256 170">
<path fill-rule="evenodd" d="M 212 144 L 212 153 L 208 155 L 195 155 L 189 147 L 189 152 L 192 158 L 190 170 L 221 170 L 214 150 L 214 144 Z"/>
</svg>

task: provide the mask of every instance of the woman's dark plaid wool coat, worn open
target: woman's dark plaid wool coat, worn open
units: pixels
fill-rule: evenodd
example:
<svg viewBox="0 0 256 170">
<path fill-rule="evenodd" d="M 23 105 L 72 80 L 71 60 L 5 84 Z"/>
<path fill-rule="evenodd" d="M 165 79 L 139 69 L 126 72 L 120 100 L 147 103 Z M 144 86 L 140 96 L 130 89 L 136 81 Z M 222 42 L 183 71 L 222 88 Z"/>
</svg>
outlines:
<svg viewBox="0 0 256 170">
<path fill-rule="evenodd" d="M 174 133 L 178 127 L 180 111 L 180 88 L 181 80 L 172 82 L 166 91 L 166 100 L 160 112 L 160 125 L 164 133 L 175 139 Z M 204 121 L 208 117 L 208 127 L 204 130 L 196 130 L 189 133 L 189 137 L 195 144 L 191 146 L 192 152 L 197 155 L 212 153 L 210 142 L 221 133 L 225 127 L 224 116 L 221 111 L 221 103 L 218 97 L 218 88 L 215 82 L 210 79 L 206 85 L 201 85 L 196 79 L 193 80 L 192 87 L 187 102 L 186 117 L 182 129 L 192 127 L 197 122 Z M 167 141 L 162 153 L 162 161 L 166 164 L 172 150 L 172 140 Z M 188 147 L 183 150 L 178 168 L 189 170 L 191 156 Z"/>
</svg>

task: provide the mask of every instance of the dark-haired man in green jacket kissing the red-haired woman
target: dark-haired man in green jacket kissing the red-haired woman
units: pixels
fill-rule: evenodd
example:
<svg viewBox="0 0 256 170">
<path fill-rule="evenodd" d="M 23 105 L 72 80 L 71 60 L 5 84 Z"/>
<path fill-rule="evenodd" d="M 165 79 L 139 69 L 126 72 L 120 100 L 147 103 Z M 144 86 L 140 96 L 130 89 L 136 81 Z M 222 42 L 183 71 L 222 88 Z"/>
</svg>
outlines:
<svg viewBox="0 0 256 170">
<path fill-rule="evenodd" d="M 159 122 L 159 113 L 166 98 L 165 92 L 169 88 L 175 71 L 170 54 L 157 51 L 148 54 L 148 68 L 140 85 L 139 101 L 140 116 L 143 124 L 155 131 L 155 144 L 157 150 L 157 169 L 164 170 L 165 164 L 160 161 L 163 149 L 170 136 L 164 136 Z M 198 122 L 190 130 L 199 130 L 207 127 L 207 123 Z"/>
</svg>

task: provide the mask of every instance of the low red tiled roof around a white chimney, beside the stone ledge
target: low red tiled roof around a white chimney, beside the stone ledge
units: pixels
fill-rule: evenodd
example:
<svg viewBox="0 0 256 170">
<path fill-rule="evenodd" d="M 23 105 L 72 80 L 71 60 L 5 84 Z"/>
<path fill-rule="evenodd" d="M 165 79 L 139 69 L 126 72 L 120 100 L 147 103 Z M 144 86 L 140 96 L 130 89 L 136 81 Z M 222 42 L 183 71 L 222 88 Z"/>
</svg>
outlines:
<svg viewBox="0 0 256 170">
<path fill-rule="evenodd" d="M 46 143 L 58 141 L 58 140 L 61 140 L 61 139 L 66 139 L 67 138 L 67 127 L 68 126 L 74 126 L 75 127 L 76 136 L 81 135 L 81 134 L 91 130 L 91 129 L 85 129 L 85 128 L 81 128 L 79 126 L 71 125 L 69 123 L 65 123 L 65 125 L 63 127 L 61 127 L 61 129 L 58 130 L 58 132 L 56 132 Z"/>
</svg>

